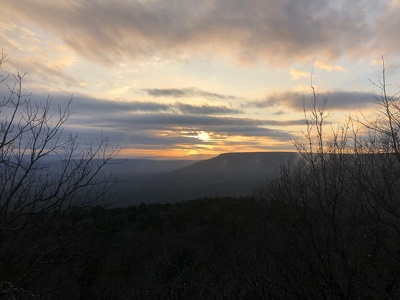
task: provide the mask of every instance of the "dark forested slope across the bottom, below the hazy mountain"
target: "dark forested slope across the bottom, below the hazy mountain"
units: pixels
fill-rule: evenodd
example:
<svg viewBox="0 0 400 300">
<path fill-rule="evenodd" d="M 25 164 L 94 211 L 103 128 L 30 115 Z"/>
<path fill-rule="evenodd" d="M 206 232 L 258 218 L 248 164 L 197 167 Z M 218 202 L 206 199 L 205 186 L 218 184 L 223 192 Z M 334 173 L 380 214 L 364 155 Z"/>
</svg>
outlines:
<svg viewBox="0 0 400 300">
<path fill-rule="evenodd" d="M 6 298 L 399 297 L 396 227 L 350 211 L 215 198 L 51 217 L 51 229 L 36 226 L 18 244 L 2 236 Z"/>
</svg>

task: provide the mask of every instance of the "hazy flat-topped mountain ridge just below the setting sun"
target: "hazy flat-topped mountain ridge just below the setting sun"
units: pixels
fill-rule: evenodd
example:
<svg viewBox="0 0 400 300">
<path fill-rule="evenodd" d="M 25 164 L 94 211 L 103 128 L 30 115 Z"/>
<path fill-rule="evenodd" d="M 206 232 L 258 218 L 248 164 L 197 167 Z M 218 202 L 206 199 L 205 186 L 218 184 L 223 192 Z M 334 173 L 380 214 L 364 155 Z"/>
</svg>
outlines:
<svg viewBox="0 0 400 300">
<path fill-rule="evenodd" d="M 123 205 L 136 205 L 249 196 L 267 176 L 297 158 L 295 152 L 225 153 L 191 164 L 186 161 L 188 165 L 168 172 L 136 172 L 126 176 L 119 187 L 120 197 Z"/>
</svg>

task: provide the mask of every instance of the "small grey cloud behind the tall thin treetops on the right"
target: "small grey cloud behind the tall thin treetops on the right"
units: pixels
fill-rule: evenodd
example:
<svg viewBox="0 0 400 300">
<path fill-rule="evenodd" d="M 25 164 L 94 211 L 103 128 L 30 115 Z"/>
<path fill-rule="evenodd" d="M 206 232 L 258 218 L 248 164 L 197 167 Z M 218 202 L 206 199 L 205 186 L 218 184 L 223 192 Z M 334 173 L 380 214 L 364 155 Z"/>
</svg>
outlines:
<svg viewBox="0 0 400 300">
<path fill-rule="evenodd" d="M 361 110 L 373 105 L 377 95 L 368 92 L 333 91 L 321 93 L 320 97 L 328 97 L 327 108 L 334 110 Z M 262 100 L 249 101 L 248 107 L 268 108 L 283 106 L 295 111 L 303 111 L 303 105 L 311 102 L 312 96 L 306 93 L 284 92 L 270 95 Z"/>
</svg>

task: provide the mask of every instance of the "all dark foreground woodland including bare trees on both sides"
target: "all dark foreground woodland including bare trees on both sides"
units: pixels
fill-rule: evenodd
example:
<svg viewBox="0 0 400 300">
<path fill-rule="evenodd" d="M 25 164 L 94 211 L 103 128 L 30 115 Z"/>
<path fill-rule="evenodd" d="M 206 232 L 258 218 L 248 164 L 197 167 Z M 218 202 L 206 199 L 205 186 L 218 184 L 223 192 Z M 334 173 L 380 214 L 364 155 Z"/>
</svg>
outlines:
<svg viewBox="0 0 400 300">
<path fill-rule="evenodd" d="M 0 57 L 0 66 L 6 59 Z M 251 198 L 107 209 L 118 153 L 0 76 L 3 299 L 399 299 L 400 106 L 325 130 L 313 89 L 300 159 Z M 58 168 L 44 159 L 57 155 Z M 132 198 L 135 195 L 131 195 Z M 117 198 L 118 199 L 118 198 Z"/>
</svg>

